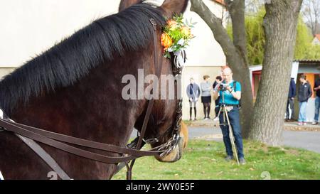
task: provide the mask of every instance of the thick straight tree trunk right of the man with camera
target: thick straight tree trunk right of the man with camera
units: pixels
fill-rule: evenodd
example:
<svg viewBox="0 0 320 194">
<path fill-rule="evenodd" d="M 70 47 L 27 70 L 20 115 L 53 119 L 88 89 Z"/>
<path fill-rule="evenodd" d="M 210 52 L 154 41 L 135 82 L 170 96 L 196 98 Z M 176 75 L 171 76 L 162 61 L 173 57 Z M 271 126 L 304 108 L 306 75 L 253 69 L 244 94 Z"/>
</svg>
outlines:
<svg viewBox="0 0 320 194">
<path fill-rule="evenodd" d="M 265 4 L 265 58 L 257 101 L 250 125 L 250 139 L 279 145 L 302 0 L 272 0 Z"/>
</svg>

